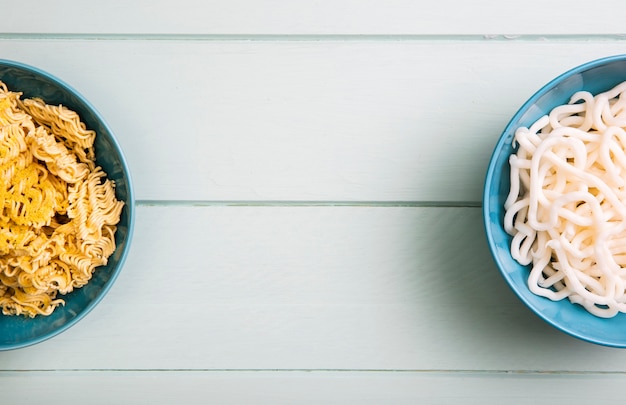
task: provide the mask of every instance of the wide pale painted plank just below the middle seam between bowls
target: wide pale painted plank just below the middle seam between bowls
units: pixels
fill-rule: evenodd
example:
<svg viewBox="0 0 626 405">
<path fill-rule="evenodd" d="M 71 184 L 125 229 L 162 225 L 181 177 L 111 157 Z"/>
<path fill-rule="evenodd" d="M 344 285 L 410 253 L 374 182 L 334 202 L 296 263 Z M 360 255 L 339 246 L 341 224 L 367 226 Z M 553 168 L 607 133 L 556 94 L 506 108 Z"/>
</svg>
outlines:
<svg viewBox="0 0 626 405">
<path fill-rule="evenodd" d="M 140 206 L 137 221 L 103 302 L 0 369 L 626 371 L 626 351 L 518 301 L 478 208 Z"/>
</svg>

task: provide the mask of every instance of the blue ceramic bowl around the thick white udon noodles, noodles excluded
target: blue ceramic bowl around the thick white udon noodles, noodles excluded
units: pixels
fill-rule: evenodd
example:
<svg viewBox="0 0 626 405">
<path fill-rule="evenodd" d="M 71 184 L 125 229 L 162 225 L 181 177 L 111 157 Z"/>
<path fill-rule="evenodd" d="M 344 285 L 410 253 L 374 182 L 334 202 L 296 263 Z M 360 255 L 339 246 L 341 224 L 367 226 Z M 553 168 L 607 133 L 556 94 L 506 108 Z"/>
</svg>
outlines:
<svg viewBox="0 0 626 405">
<path fill-rule="evenodd" d="M 510 253 L 511 237 L 504 231 L 504 201 L 509 192 L 509 156 L 520 126 L 529 127 L 554 107 L 566 104 L 577 91 L 597 94 L 626 80 L 626 55 L 585 63 L 546 84 L 513 116 L 491 157 L 483 194 L 483 218 L 489 248 L 500 272 L 517 296 L 540 318 L 561 331 L 592 343 L 626 347 L 626 314 L 603 319 L 565 299 L 553 302 L 533 294 L 526 283 L 530 266 L 517 263 Z"/>
</svg>

